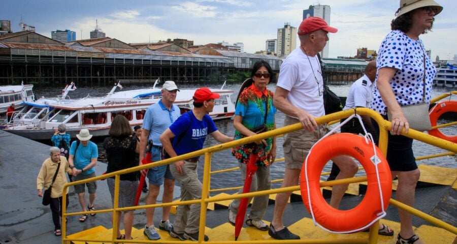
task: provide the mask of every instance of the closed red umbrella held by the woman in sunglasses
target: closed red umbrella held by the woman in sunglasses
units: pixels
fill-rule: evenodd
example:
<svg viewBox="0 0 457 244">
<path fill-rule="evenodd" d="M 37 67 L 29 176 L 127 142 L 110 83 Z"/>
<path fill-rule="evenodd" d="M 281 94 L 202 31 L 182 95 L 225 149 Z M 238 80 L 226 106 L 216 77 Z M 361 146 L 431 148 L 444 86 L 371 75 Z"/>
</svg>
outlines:
<svg viewBox="0 0 457 244">
<path fill-rule="evenodd" d="M 255 150 L 253 150 L 253 152 L 254 151 Z M 249 159 L 249 163 L 247 164 L 247 167 L 246 167 L 246 179 L 244 180 L 243 193 L 249 193 L 251 190 L 252 176 L 255 174 L 255 172 L 257 171 L 257 168 L 258 168 L 257 165 L 255 165 L 255 162 L 257 162 L 257 159 L 258 159 L 257 154 L 252 154 L 251 158 Z M 237 214 L 237 218 L 235 219 L 235 240 L 237 240 L 238 236 L 240 236 L 241 227 L 243 226 L 243 223 L 244 223 L 244 216 L 246 215 L 246 208 L 248 205 L 248 200 L 249 200 L 249 198 L 240 199 L 240 206 L 238 207 L 238 214 Z"/>
</svg>

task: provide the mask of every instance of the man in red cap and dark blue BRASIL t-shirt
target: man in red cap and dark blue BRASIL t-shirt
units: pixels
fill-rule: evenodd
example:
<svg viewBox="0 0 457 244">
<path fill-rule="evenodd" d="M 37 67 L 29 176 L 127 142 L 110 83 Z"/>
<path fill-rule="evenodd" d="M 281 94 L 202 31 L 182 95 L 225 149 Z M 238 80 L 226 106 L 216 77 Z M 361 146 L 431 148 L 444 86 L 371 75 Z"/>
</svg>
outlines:
<svg viewBox="0 0 457 244">
<path fill-rule="evenodd" d="M 213 111 L 214 99 L 219 94 L 212 93 L 203 87 L 193 95 L 193 109 L 179 117 L 169 129 L 160 136 L 162 146 L 171 157 L 190 153 L 203 148 L 206 136 L 211 135 L 216 141 L 224 143 L 233 141 L 220 133 L 208 115 Z M 173 138 L 173 145 L 170 139 Z M 170 164 L 170 171 L 181 185 L 181 201 L 202 197 L 202 182 L 197 174 L 199 157 L 190 158 Z M 175 222 L 170 235 L 180 240 L 198 240 L 200 222 L 200 204 L 179 205 Z M 205 241 L 208 236 L 205 235 Z"/>
</svg>

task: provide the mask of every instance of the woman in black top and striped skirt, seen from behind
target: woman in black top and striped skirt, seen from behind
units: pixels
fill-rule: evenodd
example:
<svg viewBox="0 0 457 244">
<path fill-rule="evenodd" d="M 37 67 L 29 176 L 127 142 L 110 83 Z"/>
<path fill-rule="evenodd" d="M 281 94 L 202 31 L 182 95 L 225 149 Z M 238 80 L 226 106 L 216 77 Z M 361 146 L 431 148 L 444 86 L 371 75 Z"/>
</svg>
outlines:
<svg viewBox="0 0 457 244">
<path fill-rule="evenodd" d="M 108 134 L 110 137 L 103 142 L 108 159 L 107 173 L 138 166 L 135 153 L 138 153 L 140 143 L 137 143 L 136 138 L 132 136 L 133 130 L 128 120 L 122 115 L 114 117 Z M 114 176 L 108 178 L 107 182 L 114 206 Z M 120 175 L 119 207 L 134 206 L 138 182 L 138 172 Z M 132 239 L 134 211 L 123 211 L 123 213 L 125 235 L 122 235 L 118 228 L 117 238 Z M 120 226 L 121 214 L 122 212 L 118 212 L 117 226 Z"/>
</svg>

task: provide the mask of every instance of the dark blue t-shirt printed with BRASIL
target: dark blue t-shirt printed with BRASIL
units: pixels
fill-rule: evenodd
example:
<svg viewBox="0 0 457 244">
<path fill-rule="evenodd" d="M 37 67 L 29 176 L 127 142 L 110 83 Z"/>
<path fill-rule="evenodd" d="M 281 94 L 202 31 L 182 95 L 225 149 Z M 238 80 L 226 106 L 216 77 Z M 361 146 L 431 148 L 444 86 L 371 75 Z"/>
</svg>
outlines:
<svg viewBox="0 0 457 244">
<path fill-rule="evenodd" d="M 200 121 L 195 118 L 193 111 L 189 111 L 181 115 L 170 126 L 170 130 L 175 134 L 173 149 L 179 156 L 202 149 L 206 136 L 217 131 L 217 128 L 208 114 Z"/>
</svg>

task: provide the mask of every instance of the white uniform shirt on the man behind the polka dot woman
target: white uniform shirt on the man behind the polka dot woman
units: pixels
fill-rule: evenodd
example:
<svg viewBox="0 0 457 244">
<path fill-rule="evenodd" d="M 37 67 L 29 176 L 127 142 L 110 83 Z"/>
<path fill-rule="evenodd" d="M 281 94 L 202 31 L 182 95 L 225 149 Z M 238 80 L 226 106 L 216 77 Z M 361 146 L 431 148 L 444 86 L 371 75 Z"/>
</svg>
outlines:
<svg viewBox="0 0 457 244">
<path fill-rule="evenodd" d="M 373 99 L 373 83 L 367 75 L 360 77 L 349 88 L 347 94 L 346 106 L 343 110 L 355 107 L 369 108 L 371 100 Z"/>
</svg>

